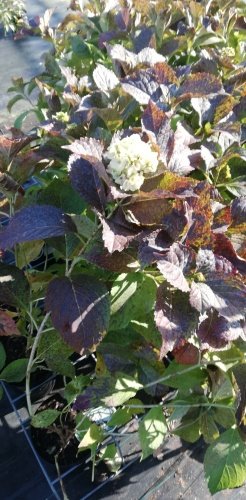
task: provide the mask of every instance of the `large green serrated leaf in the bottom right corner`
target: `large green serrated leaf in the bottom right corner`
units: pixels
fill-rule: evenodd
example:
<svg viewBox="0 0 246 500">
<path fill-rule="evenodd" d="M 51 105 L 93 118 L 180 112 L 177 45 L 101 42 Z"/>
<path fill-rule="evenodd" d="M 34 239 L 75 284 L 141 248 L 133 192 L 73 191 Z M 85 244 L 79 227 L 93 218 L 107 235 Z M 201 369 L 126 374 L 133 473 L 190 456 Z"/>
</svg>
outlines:
<svg viewBox="0 0 246 500">
<path fill-rule="evenodd" d="M 212 494 L 241 486 L 246 480 L 246 445 L 237 429 L 229 429 L 209 446 L 205 475 Z"/>
</svg>

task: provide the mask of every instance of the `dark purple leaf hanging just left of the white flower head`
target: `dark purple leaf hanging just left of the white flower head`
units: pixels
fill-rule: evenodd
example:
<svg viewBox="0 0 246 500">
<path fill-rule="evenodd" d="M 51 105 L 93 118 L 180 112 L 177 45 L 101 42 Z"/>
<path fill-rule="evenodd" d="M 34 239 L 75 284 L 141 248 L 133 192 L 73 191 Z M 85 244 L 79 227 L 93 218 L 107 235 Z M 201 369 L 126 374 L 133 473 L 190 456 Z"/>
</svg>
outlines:
<svg viewBox="0 0 246 500">
<path fill-rule="evenodd" d="M 107 176 L 104 165 L 93 156 L 71 155 L 68 170 L 73 188 L 92 207 L 104 211 L 106 193 L 102 179 Z"/>
</svg>

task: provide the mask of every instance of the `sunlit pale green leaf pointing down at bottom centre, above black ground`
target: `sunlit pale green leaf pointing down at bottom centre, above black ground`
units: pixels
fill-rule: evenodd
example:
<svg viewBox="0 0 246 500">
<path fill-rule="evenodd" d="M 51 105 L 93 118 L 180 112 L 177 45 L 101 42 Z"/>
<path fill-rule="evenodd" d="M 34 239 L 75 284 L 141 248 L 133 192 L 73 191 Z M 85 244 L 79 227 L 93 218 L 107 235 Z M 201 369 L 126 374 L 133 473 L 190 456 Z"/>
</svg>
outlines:
<svg viewBox="0 0 246 500">
<path fill-rule="evenodd" d="M 142 460 L 161 446 L 166 433 L 167 424 L 162 408 L 152 408 L 139 424 L 138 434 L 142 448 Z"/>
</svg>

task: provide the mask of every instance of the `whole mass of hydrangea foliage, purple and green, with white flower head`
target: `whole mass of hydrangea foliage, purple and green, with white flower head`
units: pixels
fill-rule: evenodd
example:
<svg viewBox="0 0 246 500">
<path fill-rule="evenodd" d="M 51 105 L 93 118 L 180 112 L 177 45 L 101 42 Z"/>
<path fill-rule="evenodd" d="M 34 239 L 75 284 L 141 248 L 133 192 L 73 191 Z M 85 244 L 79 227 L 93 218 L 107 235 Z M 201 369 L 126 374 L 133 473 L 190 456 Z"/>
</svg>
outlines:
<svg viewBox="0 0 246 500">
<path fill-rule="evenodd" d="M 57 29 L 46 13 L 45 71 L 11 89 L 9 108 L 38 90 L 15 125 L 39 124 L 0 140 L 0 294 L 29 322 L 31 414 L 37 359 L 69 379 L 94 463 L 119 464 L 105 439 L 138 416 L 142 458 L 203 436 L 215 493 L 246 478 L 245 3 L 112 3 L 72 2 Z"/>
</svg>

